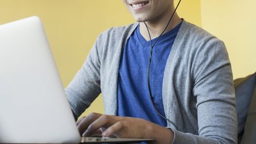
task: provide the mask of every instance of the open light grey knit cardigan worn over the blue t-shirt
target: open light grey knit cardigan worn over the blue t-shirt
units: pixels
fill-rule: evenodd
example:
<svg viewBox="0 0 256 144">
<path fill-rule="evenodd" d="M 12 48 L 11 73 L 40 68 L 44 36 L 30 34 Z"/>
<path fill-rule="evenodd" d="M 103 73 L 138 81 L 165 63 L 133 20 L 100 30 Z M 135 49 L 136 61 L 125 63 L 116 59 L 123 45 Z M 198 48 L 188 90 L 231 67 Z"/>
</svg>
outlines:
<svg viewBox="0 0 256 144">
<path fill-rule="evenodd" d="M 110 28 L 100 34 L 65 89 L 76 116 L 100 93 L 105 114 L 117 114 L 120 56 L 136 27 Z M 167 60 L 162 97 L 165 116 L 177 126 L 167 122 L 174 130 L 173 143 L 236 143 L 235 93 L 225 44 L 185 20 Z"/>
</svg>

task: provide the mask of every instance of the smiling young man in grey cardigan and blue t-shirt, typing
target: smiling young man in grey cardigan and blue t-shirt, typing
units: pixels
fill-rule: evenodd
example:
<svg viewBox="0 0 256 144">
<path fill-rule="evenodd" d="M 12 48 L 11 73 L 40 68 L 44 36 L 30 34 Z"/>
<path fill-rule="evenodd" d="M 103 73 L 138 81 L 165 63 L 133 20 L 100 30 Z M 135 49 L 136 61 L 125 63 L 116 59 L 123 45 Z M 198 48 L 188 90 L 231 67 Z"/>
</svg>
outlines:
<svg viewBox="0 0 256 144">
<path fill-rule="evenodd" d="M 223 42 L 178 17 L 172 0 L 123 1 L 139 23 L 102 33 L 65 89 L 76 117 L 103 93 L 105 114 L 77 121 L 81 135 L 101 129 L 103 136 L 154 143 L 236 143 L 231 63 Z"/>
</svg>

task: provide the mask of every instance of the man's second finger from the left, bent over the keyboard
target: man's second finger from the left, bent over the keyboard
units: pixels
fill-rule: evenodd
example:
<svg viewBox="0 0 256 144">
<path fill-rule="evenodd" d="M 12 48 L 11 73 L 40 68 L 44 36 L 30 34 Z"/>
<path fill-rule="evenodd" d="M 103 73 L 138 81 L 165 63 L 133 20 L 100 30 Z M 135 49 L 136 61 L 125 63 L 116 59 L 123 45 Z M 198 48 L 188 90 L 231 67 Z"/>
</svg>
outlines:
<svg viewBox="0 0 256 144">
<path fill-rule="evenodd" d="M 113 119 L 113 116 L 102 115 L 97 120 L 89 124 L 87 130 L 83 133 L 82 136 L 91 136 L 95 130 L 100 129 L 100 127 L 109 127 L 114 124 L 116 120 Z"/>
</svg>

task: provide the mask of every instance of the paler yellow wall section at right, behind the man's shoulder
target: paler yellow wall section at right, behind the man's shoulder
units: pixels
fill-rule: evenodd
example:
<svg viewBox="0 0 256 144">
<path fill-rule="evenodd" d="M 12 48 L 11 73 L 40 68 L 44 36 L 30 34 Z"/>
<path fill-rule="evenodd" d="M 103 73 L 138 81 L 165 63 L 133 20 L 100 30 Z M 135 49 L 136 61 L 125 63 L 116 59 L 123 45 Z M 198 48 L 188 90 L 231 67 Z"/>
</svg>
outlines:
<svg viewBox="0 0 256 144">
<path fill-rule="evenodd" d="M 256 1 L 201 1 L 202 27 L 222 39 L 231 59 L 233 77 L 256 71 Z"/>
</svg>

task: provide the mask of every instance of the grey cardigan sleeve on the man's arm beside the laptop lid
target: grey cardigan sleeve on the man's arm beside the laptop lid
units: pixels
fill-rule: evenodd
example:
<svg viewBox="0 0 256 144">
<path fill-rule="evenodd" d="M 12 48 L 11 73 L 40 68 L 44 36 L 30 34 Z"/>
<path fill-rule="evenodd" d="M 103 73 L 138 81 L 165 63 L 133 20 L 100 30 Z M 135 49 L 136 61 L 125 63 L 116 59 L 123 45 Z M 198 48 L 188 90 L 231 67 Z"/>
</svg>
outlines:
<svg viewBox="0 0 256 144">
<path fill-rule="evenodd" d="M 87 60 L 82 68 L 76 73 L 75 77 L 65 89 L 66 96 L 75 118 L 77 119 L 92 101 L 101 93 L 100 88 L 100 57 L 101 52 L 98 49 L 101 34 L 92 47 Z"/>
</svg>

